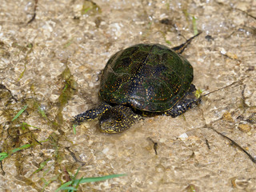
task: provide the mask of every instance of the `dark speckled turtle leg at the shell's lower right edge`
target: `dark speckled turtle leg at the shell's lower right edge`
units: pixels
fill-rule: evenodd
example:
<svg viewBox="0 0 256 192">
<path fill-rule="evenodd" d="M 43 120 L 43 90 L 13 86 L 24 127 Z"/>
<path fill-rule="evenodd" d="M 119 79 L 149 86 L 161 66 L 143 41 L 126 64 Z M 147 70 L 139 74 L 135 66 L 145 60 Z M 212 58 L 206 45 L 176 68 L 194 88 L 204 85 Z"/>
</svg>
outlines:
<svg viewBox="0 0 256 192">
<path fill-rule="evenodd" d="M 202 99 L 195 96 L 195 90 L 195 86 L 191 84 L 190 90 L 186 93 L 186 95 L 181 100 L 179 100 L 177 104 L 170 110 L 167 110 L 165 114 L 175 118 L 178 115 L 184 114 L 186 110 L 190 110 L 194 106 L 198 105 Z"/>
</svg>

